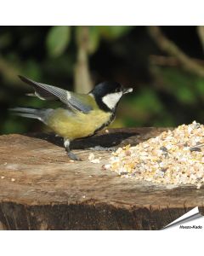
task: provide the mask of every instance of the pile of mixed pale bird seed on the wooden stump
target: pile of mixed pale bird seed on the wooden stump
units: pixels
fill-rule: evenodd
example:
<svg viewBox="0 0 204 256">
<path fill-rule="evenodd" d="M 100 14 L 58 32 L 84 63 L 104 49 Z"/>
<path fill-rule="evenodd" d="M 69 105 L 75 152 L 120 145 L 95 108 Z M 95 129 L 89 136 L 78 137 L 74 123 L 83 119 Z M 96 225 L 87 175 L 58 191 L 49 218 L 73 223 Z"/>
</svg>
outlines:
<svg viewBox="0 0 204 256">
<path fill-rule="evenodd" d="M 133 177 L 153 183 L 204 183 L 204 125 L 195 121 L 164 131 L 135 147 L 127 145 L 112 153 L 105 169 L 122 177 Z"/>
</svg>

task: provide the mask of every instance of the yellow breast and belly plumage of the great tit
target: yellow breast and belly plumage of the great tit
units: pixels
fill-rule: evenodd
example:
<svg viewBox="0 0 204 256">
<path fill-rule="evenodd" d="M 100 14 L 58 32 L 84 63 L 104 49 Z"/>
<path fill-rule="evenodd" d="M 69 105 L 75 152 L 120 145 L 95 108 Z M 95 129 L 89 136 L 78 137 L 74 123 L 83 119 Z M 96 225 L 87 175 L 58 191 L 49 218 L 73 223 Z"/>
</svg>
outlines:
<svg viewBox="0 0 204 256">
<path fill-rule="evenodd" d="M 71 114 L 64 108 L 57 108 L 50 114 L 47 124 L 59 136 L 71 140 L 88 137 L 102 125 L 109 122 L 111 113 L 105 113 L 99 108 L 85 113 Z"/>
</svg>

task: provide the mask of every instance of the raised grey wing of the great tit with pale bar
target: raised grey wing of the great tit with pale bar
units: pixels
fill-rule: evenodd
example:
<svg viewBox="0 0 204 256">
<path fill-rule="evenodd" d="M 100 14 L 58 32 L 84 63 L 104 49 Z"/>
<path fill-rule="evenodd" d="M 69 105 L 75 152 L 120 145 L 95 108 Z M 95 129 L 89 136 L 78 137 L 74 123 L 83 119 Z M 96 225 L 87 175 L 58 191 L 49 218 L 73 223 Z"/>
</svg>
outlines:
<svg viewBox="0 0 204 256">
<path fill-rule="evenodd" d="M 33 86 L 35 96 L 42 100 L 59 100 L 60 102 L 65 103 L 65 105 L 71 108 L 71 110 L 80 111 L 82 113 L 88 113 L 93 109 L 92 106 L 88 105 L 88 103 L 82 102 L 81 99 L 78 99 L 77 93 L 73 93 L 53 85 L 41 84 L 23 76 L 19 77 L 26 84 Z"/>
</svg>

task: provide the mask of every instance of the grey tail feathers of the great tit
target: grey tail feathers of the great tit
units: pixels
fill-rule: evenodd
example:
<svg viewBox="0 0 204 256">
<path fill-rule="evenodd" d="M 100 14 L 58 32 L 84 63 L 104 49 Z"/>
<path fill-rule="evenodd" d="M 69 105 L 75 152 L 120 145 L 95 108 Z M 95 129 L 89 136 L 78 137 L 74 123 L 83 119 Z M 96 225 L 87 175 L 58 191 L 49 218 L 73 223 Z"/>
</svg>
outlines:
<svg viewBox="0 0 204 256">
<path fill-rule="evenodd" d="M 40 110 L 36 108 L 9 108 L 9 110 L 14 112 L 16 115 L 31 119 L 39 119 L 42 121 Z"/>
</svg>

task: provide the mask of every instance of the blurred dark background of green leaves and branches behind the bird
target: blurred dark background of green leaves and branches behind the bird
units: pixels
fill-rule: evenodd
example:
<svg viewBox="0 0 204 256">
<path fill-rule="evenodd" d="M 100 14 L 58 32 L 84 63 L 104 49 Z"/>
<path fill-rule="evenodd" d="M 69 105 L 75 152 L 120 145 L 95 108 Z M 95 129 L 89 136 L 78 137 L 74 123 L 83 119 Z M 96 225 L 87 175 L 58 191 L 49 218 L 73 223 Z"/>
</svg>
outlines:
<svg viewBox="0 0 204 256">
<path fill-rule="evenodd" d="M 103 80 L 133 87 L 114 127 L 203 123 L 203 26 L 0 26 L 0 132 L 45 131 L 8 108 L 46 108 L 25 75 L 88 92 Z"/>
</svg>

